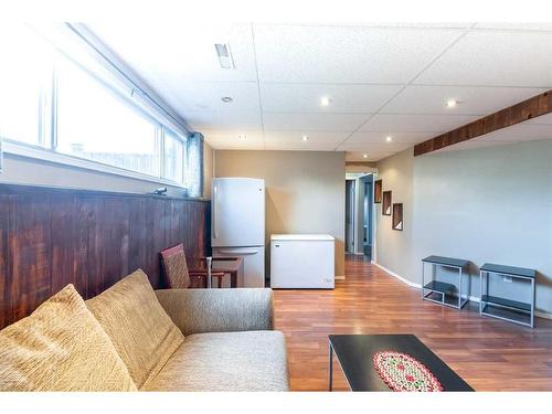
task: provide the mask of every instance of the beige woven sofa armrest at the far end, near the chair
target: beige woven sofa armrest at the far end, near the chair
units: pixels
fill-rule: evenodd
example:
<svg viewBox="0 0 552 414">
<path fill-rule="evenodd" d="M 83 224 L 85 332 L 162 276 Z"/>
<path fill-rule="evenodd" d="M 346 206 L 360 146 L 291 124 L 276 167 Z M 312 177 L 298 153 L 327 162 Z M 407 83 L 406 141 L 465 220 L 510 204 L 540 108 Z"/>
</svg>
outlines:
<svg viewBox="0 0 552 414">
<path fill-rule="evenodd" d="M 183 335 L 274 328 L 272 289 L 162 289 L 156 295 Z"/>
</svg>

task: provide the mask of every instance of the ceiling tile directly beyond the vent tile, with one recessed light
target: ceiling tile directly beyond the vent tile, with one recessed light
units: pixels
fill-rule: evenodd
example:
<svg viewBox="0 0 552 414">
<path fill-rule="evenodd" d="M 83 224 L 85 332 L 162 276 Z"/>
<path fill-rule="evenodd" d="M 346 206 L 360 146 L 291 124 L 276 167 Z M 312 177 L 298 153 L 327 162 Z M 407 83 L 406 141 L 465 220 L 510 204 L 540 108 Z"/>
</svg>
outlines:
<svg viewBox="0 0 552 414">
<path fill-rule="evenodd" d="M 256 82 L 180 82 L 151 85 L 167 103 L 180 113 L 188 110 L 246 112 L 259 110 Z M 231 97 L 231 103 L 222 102 Z"/>
</svg>

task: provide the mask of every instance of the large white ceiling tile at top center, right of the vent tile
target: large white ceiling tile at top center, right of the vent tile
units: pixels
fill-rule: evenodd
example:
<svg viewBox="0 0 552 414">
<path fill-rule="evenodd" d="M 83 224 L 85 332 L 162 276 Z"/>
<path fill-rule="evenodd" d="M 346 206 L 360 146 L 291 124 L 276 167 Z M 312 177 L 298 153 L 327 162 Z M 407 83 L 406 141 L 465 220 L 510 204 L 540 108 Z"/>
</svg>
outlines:
<svg viewBox="0 0 552 414">
<path fill-rule="evenodd" d="M 254 25 L 262 82 L 408 82 L 461 29 Z"/>
</svg>

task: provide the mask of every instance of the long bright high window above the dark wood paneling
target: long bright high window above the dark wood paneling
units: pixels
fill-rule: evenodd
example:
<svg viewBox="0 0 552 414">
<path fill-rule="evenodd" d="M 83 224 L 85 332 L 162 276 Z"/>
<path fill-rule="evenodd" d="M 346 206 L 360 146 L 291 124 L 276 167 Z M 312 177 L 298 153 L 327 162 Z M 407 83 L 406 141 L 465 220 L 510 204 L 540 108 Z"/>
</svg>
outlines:
<svg viewBox="0 0 552 414">
<path fill-rule="evenodd" d="M 0 28 L 0 137 L 19 155 L 184 187 L 188 132 L 108 71 L 24 25 Z"/>
</svg>

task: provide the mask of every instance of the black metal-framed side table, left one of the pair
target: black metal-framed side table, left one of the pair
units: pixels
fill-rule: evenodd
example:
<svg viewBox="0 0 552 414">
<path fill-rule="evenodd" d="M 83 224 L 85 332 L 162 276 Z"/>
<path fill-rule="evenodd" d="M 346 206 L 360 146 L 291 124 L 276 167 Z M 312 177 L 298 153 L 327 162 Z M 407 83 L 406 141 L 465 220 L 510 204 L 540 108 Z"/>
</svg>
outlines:
<svg viewBox="0 0 552 414">
<path fill-rule="evenodd" d="M 425 264 L 432 265 L 432 279 L 428 284 L 425 283 Z M 436 280 L 437 266 L 454 268 L 458 272 L 458 286 L 445 282 Z M 456 309 L 461 309 L 469 299 L 469 261 L 460 258 L 428 256 L 422 259 L 422 299 L 429 300 L 436 304 L 450 306 Z M 467 280 L 465 289 L 463 282 Z M 463 293 L 464 291 L 464 293 Z M 455 297 L 457 296 L 457 297 Z M 440 299 L 439 299 L 440 297 Z"/>
</svg>

